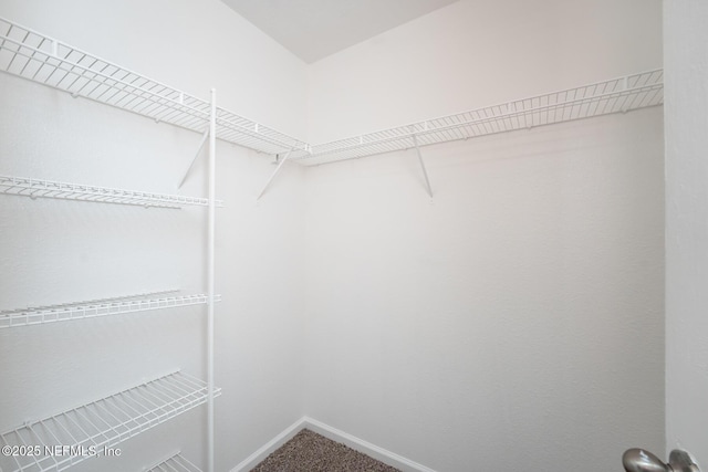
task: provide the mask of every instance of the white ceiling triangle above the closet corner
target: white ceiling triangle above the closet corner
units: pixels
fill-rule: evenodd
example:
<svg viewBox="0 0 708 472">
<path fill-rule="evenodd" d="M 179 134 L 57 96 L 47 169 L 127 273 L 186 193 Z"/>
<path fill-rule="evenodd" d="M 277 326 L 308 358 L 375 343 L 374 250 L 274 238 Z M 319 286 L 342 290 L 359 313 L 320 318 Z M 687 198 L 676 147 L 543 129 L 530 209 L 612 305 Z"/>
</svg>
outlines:
<svg viewBox="0 0 708 472">
<path fill-rule="evenodd" d="M 306 63 L 458 0 L 221 0 Z"/>
</svg>

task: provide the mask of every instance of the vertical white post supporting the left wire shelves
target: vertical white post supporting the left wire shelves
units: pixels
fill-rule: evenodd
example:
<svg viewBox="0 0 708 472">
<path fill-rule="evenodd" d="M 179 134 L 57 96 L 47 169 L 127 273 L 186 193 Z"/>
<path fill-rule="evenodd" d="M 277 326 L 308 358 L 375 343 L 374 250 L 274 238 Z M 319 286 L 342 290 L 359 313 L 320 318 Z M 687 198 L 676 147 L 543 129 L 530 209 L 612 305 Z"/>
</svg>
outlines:
<svg viewBox="0 0 708 472">
<path fill-rule="evenodd" d="M 217 164 L 217 91 L 211 88 L 211 114 L 209 120 L 209 218 L 208 218 L 208 268 L 207 284 L 207 471 L 214 472 L 214 294 L 215 294 L 215 238 L 216 238 L 216 164 Z"/>
</svg>

